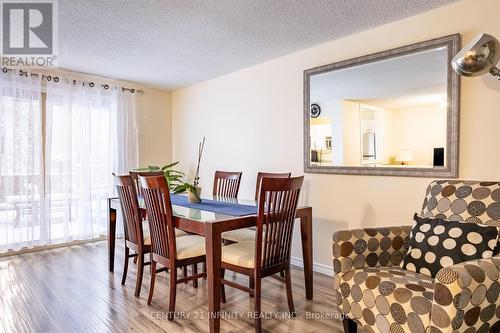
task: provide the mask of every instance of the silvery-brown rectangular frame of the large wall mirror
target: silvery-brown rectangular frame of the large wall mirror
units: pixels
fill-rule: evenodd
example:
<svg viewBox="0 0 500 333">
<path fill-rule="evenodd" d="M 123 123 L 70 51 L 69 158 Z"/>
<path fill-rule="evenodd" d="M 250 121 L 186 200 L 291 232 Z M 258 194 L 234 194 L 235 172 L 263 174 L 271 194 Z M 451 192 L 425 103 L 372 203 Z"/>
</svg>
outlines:
<svg viewBox="0 0 500 333">
<path fill-rule="evenodd" d="M 448 50 L 448 77 L 447 77 L 447 120 L 446 120 L 446 155 L 443 167 L 366 167 L 366 166 L 318 166 L 310 162 L 310 78 L 316 74 L 323 74 L 353 66 L 368 64 L 390 58 L 409 55 L 439 47 Z M 458 177 L 459 152 L 459 113 L 460 113 L 460 77 L 452 69 L 451 60 L 460 50 L 460 34 L 449 35 L 415 43 L 395 49 L 373 53 L 349 60 L 306 69 L 304 71 L 304 172 L 331 173 L 348 175 L 379 175 L 405 177 Z"/>
</svg>

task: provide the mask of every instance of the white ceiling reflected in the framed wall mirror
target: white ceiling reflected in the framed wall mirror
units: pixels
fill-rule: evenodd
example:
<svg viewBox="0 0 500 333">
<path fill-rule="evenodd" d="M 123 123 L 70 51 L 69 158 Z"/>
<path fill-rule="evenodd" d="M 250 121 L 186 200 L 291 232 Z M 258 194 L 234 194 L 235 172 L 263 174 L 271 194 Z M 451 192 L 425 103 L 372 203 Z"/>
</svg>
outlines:
<svg viewBox="0 0 500 333">
<path fill-rule="evenodd" d="M 311 103 L 355 100 L 386 108 L 439 103 L 446 95 L 445 47 L 311 76 Z"/>
</svg>

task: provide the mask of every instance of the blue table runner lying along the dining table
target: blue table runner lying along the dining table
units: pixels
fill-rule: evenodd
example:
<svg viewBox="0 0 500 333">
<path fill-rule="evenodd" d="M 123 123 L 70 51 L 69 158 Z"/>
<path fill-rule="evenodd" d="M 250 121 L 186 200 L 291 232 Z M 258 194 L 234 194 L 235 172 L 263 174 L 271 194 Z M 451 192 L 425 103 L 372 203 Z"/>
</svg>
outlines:
<svg viewBox="0 0 500 333">
<path fill-rule="evenodd" d="M 183 206 L 187 208 L 194 208 L 206 210 L 209 212 L 232 215 L 232 216 L 245 216 L 257 214 L 257 207 L 250 205 L 242 205 L 232 202 L 222 202 L 210 199 L 201 199 L 201 203 L 192 204 L 188 201 L 187 196 L 179 194 L 171 194 L 170 201 L 172 205 Z"/>
</svg>

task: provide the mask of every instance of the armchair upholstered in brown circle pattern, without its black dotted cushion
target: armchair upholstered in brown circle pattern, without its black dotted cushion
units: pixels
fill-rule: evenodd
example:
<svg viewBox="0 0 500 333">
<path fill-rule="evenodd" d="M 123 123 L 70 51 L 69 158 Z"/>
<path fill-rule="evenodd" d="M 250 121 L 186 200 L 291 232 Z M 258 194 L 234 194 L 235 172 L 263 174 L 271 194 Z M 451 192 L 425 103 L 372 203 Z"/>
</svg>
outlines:
<svg viewBox="0 0 500 333">
<path fill-rule="evenodd" d="M 500 183 L 434 181 L 421 215 L 500 226 Z M 399 266 L 410 231 L 333 234 L 335 301 L 345 315 L 344 331 L 361 325 L 382 333 L 500 332 L 500 255 L 446 267 L 431 278 Z"/>
</svg>

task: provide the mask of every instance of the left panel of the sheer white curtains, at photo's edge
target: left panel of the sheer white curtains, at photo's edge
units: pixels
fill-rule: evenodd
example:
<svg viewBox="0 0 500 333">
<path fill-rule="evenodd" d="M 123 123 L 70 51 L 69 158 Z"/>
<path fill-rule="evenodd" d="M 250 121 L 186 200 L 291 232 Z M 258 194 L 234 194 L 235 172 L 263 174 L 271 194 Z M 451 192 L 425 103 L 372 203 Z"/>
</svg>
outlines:
<svg viewBox="0 0 500 333">
<path fill-rule="evenodd" d="M 47 241 L 40 79 L 0 73 L 0 252 Z"/>
</svg>

